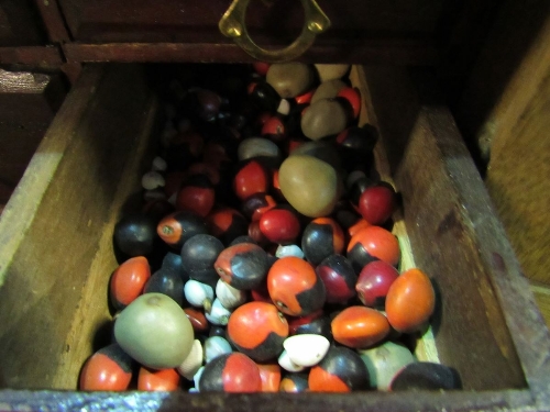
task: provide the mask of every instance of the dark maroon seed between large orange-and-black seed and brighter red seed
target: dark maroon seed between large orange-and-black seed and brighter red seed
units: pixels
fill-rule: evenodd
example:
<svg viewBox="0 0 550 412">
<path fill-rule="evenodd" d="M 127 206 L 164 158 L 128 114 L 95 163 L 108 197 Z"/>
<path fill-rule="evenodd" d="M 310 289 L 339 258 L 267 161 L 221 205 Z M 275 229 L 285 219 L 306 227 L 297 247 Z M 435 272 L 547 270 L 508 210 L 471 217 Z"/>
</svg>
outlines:
<svg viewBox="0 0 550 412">
<path fill-rule="evenodd" d="M 358 275 L 350 260 L 342 255 L 331 255 L 315 269 L 327 290 L 327 302 L 345 304 L 355 297 Z"/>
</svg>

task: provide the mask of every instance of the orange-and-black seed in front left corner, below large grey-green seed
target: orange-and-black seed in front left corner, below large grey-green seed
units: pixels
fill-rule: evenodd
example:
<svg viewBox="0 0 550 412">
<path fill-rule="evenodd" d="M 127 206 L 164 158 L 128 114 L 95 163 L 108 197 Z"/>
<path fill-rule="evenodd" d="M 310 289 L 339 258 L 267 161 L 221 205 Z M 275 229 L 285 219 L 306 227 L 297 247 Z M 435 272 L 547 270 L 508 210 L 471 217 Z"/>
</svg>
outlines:
<svg viewBox="0 0 550 412">
<path fill-rule="evenodd" d="M 123 391 L 132 379 L 132 358 L 119 346 L 106 346 L 84 364 L 79 390 Z"/>
</svg>

